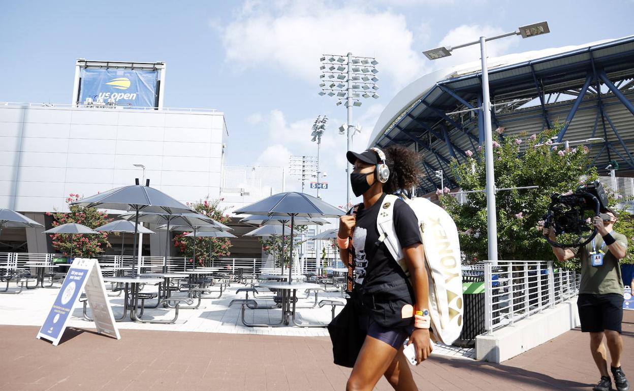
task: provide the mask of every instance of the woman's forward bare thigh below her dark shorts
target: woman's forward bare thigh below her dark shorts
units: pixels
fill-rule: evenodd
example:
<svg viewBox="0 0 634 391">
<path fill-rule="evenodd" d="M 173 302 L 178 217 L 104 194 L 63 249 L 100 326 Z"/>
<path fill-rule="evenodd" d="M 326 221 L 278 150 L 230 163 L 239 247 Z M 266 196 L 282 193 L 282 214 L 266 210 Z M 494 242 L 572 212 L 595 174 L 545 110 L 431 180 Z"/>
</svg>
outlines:
<svg viewBox="0 0 634 391">
<path fill-rule="evenodd" d="M 391 366 L 398 351 L 377 338 L 365 337 L 346 385 L 347 391 L 372 390 Z M 411 374 L 410 374 L 411 376 Z"/>
</svg>

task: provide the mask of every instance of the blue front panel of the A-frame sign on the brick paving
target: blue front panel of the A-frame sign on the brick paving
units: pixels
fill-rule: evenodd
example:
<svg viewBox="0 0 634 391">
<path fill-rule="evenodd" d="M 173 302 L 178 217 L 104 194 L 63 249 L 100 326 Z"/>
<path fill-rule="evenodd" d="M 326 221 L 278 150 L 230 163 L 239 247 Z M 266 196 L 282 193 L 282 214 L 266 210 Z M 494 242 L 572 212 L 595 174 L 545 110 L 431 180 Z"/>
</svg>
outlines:
<svg viewBox="0 0 634 391">
<path fill-rule="evenodd" d="M 61 285 L 60 292 L 55 298 L 55 303 L 53 303 L 46 321 L 42 324 L 40 334 L 46 335 L 46 338 L 51 340 L 58 340 L 61 337 L 73 304 L 82 292 L 88 272 L 89 270 L 74 269 L 73 267 L 68 269 L 66 279 Z"/>
</svg>

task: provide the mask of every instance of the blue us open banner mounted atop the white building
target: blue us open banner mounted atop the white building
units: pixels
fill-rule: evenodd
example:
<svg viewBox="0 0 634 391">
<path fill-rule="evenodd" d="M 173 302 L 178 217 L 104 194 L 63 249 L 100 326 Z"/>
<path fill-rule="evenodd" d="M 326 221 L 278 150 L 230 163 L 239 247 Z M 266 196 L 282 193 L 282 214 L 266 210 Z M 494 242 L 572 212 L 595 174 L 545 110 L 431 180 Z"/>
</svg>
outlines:
<svg viewBox="0 0 634 391">
<path fill-rule="evenodd" d="M 158 78 L 154 70 L 82 68 L 78 103 L 112 99 L 117 106 L 155 107 Z"/>
</svg>

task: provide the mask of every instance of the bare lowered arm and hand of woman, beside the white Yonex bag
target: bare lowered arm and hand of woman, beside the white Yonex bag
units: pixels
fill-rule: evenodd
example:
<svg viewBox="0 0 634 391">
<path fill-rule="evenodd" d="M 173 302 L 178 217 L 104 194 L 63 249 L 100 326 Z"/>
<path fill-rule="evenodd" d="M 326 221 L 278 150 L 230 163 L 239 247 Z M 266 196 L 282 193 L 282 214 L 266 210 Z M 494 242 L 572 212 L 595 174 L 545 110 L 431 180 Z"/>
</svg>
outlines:
<svg viewBox="0 0 634 391">
<path fill-rule="evenodd" d="M 416 297 L 416 309 L 427 309 L 429 303 L 429 279 L 425 269 L 425 252 L 421 243 L 415 243 L 403 248 L 405 263 L 410 271 L 411 283 Z M 415 328 L 411 333 L 410 342 L 414 343 L 417 365 L 430 356 L 433 347 L 429 337 L 429 329 Z"/>
</svg>

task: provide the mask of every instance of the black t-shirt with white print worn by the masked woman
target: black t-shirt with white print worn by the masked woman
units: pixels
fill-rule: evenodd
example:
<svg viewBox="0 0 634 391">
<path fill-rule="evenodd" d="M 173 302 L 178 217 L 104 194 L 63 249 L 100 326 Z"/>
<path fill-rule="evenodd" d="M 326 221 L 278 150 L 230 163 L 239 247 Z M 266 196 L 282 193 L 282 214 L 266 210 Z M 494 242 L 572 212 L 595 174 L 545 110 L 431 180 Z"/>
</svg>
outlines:
<svg viewBox="0 0 634 391">
<path fill-rule="evenodd" d="M 353 233 L 354 283 L 365 287 L 392 281 L 394 274 L 404 276 L 403 269 L 396 263 L 385 243 L 377 246 L 377 216 L 385 195 L 367 210 L 363 204 L 356 214 L 356 226 Z M 418 229 L 418 219 L 403 200 L 394 203 L 394 228 L 401 247 L 422 243 Z"/>
</svg>

